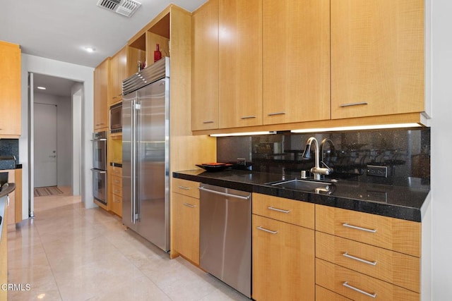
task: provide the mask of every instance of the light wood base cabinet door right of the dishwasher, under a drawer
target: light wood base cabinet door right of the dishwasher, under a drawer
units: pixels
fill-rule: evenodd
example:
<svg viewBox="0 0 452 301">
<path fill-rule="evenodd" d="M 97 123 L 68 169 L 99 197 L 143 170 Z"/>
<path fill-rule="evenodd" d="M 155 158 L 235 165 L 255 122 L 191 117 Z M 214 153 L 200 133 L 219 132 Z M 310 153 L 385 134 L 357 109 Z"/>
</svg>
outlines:
<svg viewBox="0 0 452 301">
<path fill-rule="evenodd" d="M 252 291 L 256 301 L 314 300 L 314 231 L 253 214 Z"/>
</svg>

